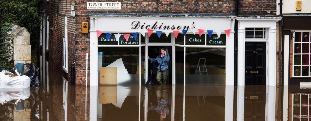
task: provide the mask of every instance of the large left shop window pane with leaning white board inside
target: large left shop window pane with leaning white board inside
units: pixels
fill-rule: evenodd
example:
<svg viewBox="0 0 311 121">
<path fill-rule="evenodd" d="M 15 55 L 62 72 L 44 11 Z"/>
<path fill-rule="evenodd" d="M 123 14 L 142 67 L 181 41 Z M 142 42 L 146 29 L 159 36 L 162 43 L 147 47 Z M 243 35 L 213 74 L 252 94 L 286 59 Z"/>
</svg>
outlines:
<svg viewBox="0 0 311 121">
<path fill-rule="evenodd" d="M 98 66 L 98 70 L 102 67 L 111 67 L 103 68 L 106 70 L 117 69 L 117 82 L 113 83 L 118 85 L 139 85 L 139 48 L 140 47 L 98 47 L 98 53 L 102 54 L 101 57 L 98 56 L 98 62 L 102 63 Z M 101 74 L 99 72 L 99 75 L 104 75 L 104 73 Z M 104 79 L 104 77 L 105 76 L 100 76 L 99 81 L 109 80 L 107 79 L 108 76 L 106 76 L 106 79 Z M 110 77 L 115 78 L 111 75 Z"/>
</svg>

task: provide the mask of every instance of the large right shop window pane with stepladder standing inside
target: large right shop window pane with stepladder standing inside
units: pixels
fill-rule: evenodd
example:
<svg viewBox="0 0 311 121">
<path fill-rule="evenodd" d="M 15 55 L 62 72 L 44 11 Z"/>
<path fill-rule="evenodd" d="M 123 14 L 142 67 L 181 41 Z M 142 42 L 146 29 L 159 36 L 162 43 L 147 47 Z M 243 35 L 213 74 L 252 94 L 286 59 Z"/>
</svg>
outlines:
<svg viewBox="0 0 311 121">
<path fill-rule="evenodd" d="M 186 84 L 225 85 L 225 48 L 186 47 Z"/>
</svg>

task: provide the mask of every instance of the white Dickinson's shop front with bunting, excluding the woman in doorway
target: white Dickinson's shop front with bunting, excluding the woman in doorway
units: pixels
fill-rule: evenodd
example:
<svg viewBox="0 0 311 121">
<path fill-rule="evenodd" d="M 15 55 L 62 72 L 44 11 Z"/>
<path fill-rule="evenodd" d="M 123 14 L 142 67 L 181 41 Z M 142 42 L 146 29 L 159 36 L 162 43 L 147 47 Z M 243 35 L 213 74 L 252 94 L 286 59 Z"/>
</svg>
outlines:
<svg viewBox="0 0 311 121">
<path fill-rule="evenodd" d="M 155 80 L 161 48 L 168 84 L 234 85 L 234 17 L 89 17 L 91 85 Z"/>
</svg>

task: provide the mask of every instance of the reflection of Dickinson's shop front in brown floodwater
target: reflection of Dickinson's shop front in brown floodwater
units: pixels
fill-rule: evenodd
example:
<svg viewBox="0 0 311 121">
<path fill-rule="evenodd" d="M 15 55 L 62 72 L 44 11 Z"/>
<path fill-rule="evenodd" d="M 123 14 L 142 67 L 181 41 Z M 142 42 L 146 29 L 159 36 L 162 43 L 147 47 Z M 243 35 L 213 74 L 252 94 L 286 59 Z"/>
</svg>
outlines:
<svg viewBox="0 0 311 121">
<path fill-rule="evenodd" d="M 98 98 L 95 93 L 90 95 L 90 120 L 231 121 L 233 89 L 233 86 L 100 86 Z"/>
</svg>

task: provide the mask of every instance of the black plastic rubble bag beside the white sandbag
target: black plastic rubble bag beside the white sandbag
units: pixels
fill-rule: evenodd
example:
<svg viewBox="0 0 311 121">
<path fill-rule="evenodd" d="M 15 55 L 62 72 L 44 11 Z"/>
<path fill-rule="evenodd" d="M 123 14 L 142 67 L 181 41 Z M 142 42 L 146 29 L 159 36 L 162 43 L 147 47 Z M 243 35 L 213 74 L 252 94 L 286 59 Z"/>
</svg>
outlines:
<svg viewBox="0 0 311 121">
<path fill-rule="evenodd" d="M 24 75 L 30 78 L 31 87 L 40 86 L 39 68 L 36 67 L 33 63 L 26 63 L 24 65 Z"/>
</svg>

